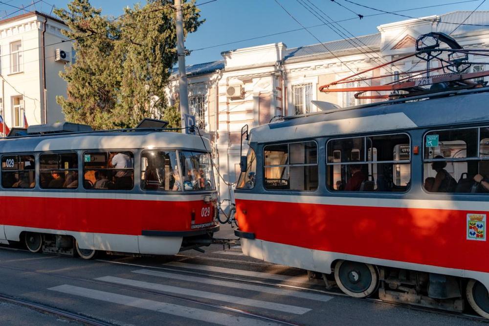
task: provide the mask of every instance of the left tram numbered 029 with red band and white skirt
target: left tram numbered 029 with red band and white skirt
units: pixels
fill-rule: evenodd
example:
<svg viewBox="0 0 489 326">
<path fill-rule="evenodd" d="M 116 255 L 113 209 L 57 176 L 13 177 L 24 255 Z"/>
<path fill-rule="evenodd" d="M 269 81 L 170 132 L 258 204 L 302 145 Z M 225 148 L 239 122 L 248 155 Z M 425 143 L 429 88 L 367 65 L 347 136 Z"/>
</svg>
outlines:
<svg viewBox="0 0 489 326">
<path fill-rule="evenodd" d="M 219 225 L 209 140 L 163 129 L 66 132 L 83 127 L 33 126 L 0 140 L 0 243 L 83 258 L 210 243 Z"/>
</svg>

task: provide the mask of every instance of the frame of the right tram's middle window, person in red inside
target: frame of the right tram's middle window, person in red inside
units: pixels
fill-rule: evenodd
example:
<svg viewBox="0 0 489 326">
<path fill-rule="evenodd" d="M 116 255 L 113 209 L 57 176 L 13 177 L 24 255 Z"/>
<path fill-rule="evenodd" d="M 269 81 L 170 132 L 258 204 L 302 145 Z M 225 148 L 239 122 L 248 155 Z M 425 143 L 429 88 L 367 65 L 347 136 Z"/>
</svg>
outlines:
<svg viewBox="0 0 489 326">
<path fill-rule="evenodd" d="M 408 145 L 408 147 L 409 147 L 409 159 L 408 160 L 381 160 L 381 161 L 374 159 L 374 155 L 371 155 L 369 153 L 370 148 L 376 149 L 377 151 L 378 151 L 378 149 L 377 149 L 377 147 L 373 147 L 372 139 L 381 138 L 381 137 L 393 137 L 393 136 L 406 136 L 406 138 L 408 140 L 408 144 L 400 143 L 400 144 L 397 144 L 395 146 Z M 352 160 L 343 161 L 343 158 L 341 157 L 341 153 L 340 153 L 339 162 L 330 162 L 330 160 L 334 159 L 335 156 L 337 157 L 337 155 L 336 155 L 337 150 L 334 148 L 332 149 L 332 153 L 331 153 L 332 155 L 331 156 L 329 155 L 331 142 L 336 141 L 336 140 L 355 140 L 355 139 L 362 139 L 361 140 L 362 148 L 359 149 L 359 158 L 360 159 L 363 158 L 363 160 L 356 160 L 356 162 L 352 162 Z M 392 153 L 389 152 L 389 154 L 392 154 L 393 156 L 395 154 L 394 153 L 395 146 L 392 148 L 393 152 Z M 363 192 L 367 192 L 367 193 L 369 193 L 369 192 L 374 192 L 374 193 L 406 193 L 411 189 L 411 180 L 412 180 L 412 173 L 413 173 L 413 171 L 412 171 L 411 148 L 412 148 L 411 136 L 406 132 L 388 133 L 388 134 L 370 134 L 370 135 L 364 135 L 364 136 L 355 135 L 355 136 L 351 136 L 351 137 L 330 138 L 326 141 L 326 160 L 325 160 L 325 162 L 326 162 L 326 174 L 327 174 L 326 188 L 328 189 L 328 191 L 339 192 L 339 193 L 343 193 L 343 192 L 347 192 L 347 193 L 351 193 L 351 192 L 355 192 L 355 193 L 356 192 L 362 192 L 362 193 Z M 371 150 L 372 153 L 374 152 L 373 149 Z M 373 164 L 376 164 L 375 169 L 374 169 Z M 396 165 L 397 166 L 408 165 L 409 166 L 409 181 L 406 183 L 405 186 L 400 186 L 400 185 L 397 185 L 395 183 L 394 176 L 392 176 L 392 186 L 388 187 L 388 189 L 390 189 L 390 190 L 379 190 L 378 189 L 378 180 L 376 180 L 376 178 L 374 177 L 374 175 L 378 176 L 378 172 L 374 172 L 374 170 L 377 171 L 377 169 L 378 169 L 377 164 L 392 164 L 392 171 L 389 171 L 392 173 L 394 173 L 394 169 L 396 168 Z M 337 171 L 334 172 L 334 170 L 330 171 L 330 166 L 335 166 L 335 165 L 340 166 L 339 172 L 337 172 Z M 361 165 L 362 167 L 363 167 L 363 165 L 367 165 L 367 169 L 370 170 L 369 172 L 371 172 L 371 174 L 367 174 L 365 176 L 366 179 L 362 182 L 362 184 L 366 185 L 365 182 L 372 181 L 373 185 L 370 186 L 370 184 L 369 184 L 368 189 L 361 189 L 361 190 L 360 189 L 358 189 L 358 190 L 335 189 L 335 187 L 337 187 L 337 184 L 334 182 L 334 174 L 340 173 L 340 180 L 339 181 L 342 181 L 343 172 L 346 172 L 346 171 L 343 171 L 343 169 L 346 169 L 347 166 L 350 166 L 350 165 Z M 342 166 L 345 166 L 345 167 L 343 168 Z M 385 175 L 386 174 L 384 173 L 384 176 Z M 390 176 L 390 173 L 388 175 Z M 372 180 L 370 180 L 370 176 L 372 176 Z M 331 180 L 332 178 L 333 178 L 333 180 Z M 331 185 L 330 185 L 330 181 L 332 182 Z M 342 185 L 342 184 L 340 184 L 340 185 Z M 345 185 L 343 185 L 343 186 L 345 186 Z M 372 187 L 372 188 L 370 188 L 370 187 Z M 405 188 L 405 189 L 401 190 L 402 188 Z M 399 190 L 396 190 L 396 189 L 399 189 Z"/>
</svg>

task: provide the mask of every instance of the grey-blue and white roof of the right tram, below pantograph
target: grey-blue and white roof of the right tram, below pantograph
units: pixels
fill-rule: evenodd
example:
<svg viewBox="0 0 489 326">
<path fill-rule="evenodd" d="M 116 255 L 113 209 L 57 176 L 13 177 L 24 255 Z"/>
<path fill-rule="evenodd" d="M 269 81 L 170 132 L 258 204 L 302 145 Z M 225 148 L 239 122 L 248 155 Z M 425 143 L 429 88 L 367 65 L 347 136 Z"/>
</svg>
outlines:
<svg viewBox="0 0 489 326">
<path fill-rule="evenodd" d="M 436 95 L 445 97 L 419 101 L 413 101 L 413 98 L 391 100 L 287 117 L 284 121 L 251 129 L 249 141 L 269 142 L 384 131 L 399 132 L 484 121 L 489 124 L 489 87 Z M 406 102 L 408 100 L 410 101 Z"/>
</svg>

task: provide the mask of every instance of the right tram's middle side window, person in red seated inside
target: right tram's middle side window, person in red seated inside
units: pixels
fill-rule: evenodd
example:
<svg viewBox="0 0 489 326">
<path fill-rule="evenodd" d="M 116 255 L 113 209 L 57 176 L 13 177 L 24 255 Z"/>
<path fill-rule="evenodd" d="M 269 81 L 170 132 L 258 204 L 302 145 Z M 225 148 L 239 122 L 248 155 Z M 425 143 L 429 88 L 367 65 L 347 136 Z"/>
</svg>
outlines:
<svg viewBox="0 0 489 326">
<path fill-rule="evenodd" d="M 406 191 L 411 182 L 405 134 L 355 137 L 327 143 L 327 186 L 335 191 Z"/>
</svg>

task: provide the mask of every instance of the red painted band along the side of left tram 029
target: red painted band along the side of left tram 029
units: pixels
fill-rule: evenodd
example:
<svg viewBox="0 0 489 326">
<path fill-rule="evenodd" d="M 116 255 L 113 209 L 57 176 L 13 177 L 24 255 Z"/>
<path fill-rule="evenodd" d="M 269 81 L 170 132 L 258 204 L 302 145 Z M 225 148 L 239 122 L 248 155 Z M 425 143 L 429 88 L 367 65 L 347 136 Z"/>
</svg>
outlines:
<svg viewBox="0 0 489 326">
<path fill-rule="evenodd" d="M 142 230 L 189 231 L 191 212 L 195 224 L 212 222 L 200 216 L 210 204 L 188 202 L 0 197 L 0 224 L 89 233 L 140 235 Z M 212 209 L 213 210 L 213 209 Z"/>
</svg>

